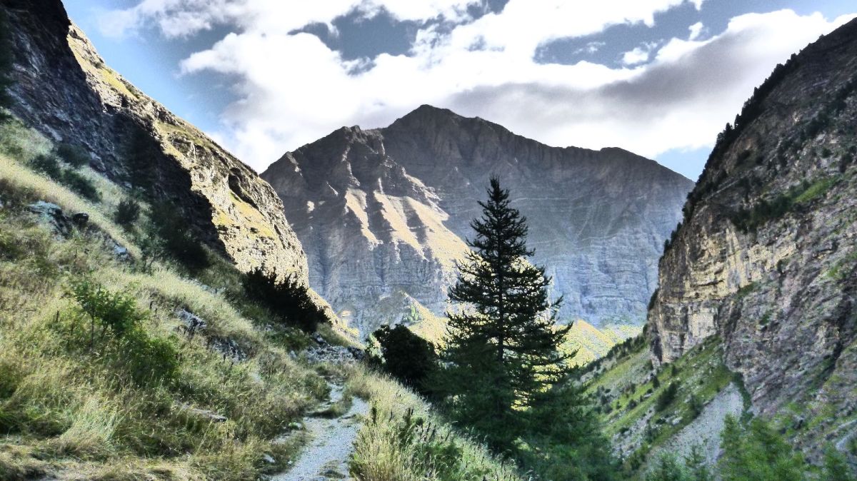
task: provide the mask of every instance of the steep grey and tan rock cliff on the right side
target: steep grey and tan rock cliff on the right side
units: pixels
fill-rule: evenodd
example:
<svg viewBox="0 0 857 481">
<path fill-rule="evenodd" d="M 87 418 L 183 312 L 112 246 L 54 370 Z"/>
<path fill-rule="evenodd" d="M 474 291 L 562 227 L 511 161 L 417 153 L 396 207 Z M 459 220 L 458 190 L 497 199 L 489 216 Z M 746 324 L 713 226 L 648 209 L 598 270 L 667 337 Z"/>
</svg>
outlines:
<svg viewBox="0 0 857 481">
<path fill-rule="evenodd" d="M 649 313 L 656 361 L 719 336 L 755 411 L 814 419 L 799 442 L 839 440 L 857 410 L 855 72 L 852 21 L 757 89 L 689 197 Z"/>
</svg>

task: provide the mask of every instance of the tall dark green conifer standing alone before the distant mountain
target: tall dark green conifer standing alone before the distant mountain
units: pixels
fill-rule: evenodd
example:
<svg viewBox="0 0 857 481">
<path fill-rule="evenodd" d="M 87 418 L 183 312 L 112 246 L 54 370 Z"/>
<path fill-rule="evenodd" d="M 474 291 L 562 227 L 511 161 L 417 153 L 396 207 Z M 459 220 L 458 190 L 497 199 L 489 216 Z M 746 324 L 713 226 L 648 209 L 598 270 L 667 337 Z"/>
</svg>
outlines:
<svg viewBox="0 0 857 481">
<path fill-rule="evenodd" d="M 556 325 L 560 300 L 548 299 L 550 278 L 526 261 L 526 219 L 512 209 L 509 193 L 491 179 L 482 217 L 470 226 L 476 238 L 458 264 L 449 299 L 458 312 L 449 318 L 440 390 L 464 424 L 506 447 L 516 432 L 516 409 L 567 373 L 558 346 L 569 327 Z"/>
</svg>

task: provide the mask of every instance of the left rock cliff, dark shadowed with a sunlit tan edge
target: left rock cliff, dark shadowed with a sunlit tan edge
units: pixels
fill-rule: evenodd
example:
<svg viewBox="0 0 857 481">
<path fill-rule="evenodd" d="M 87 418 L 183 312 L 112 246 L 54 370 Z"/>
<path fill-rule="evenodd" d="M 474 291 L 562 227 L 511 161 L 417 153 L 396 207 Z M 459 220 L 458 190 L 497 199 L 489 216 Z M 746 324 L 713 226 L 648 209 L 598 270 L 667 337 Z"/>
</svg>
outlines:
<svg viewBox="0 0 857 481">
<path fill-rule="evenodd" d="M 307 279 L 300 242 L 273 189 L 246 165 L 105 66 L 59 0 L 0 0 L 15 50 L 13 111 L 59 142 L 83 145 L 93 168 L 129 179 L 147 151 L 155 195 L 239 269 L 265 265 Z M 143 144 L 143 145 L 141 145 Z"/>
</svg>

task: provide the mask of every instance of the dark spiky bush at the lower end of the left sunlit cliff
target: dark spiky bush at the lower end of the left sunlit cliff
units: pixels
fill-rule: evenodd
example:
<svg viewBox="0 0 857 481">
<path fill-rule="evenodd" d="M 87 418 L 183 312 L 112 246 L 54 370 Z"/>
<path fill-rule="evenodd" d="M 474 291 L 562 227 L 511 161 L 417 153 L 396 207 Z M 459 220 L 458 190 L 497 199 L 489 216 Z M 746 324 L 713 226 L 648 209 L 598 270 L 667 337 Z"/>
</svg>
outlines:
<svg viewBox="0 0 857 481">
<path fill-rule="evenodd" d="M 244 276 L 242 283 L 251 300 L 266 306 L 284 324 L 313 332 L 319 324 L 327 323 L 327 315 L 315 304 L 309 289 L 293 276 L 279 280 L 276 272 L 256 268 Z"/>
</svg>

